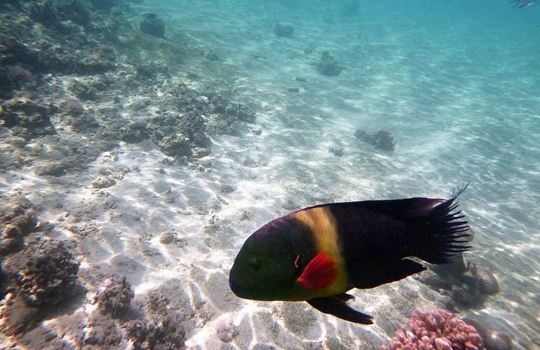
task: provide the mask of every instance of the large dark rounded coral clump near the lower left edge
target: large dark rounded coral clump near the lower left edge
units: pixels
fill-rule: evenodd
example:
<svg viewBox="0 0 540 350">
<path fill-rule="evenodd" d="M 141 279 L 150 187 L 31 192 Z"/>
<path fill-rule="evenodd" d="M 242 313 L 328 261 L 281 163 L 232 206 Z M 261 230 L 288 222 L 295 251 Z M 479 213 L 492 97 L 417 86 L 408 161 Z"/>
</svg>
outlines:
<svg viewBox="0 0 540 350">
<path fill-rule="evenodd" d="M 58 304 L 77 290 L 79 262 L 62 241 L 44 241 L 35 250 L 26 248 L 11 255 L 4 269 L 31 305 Z"/>
</svg>

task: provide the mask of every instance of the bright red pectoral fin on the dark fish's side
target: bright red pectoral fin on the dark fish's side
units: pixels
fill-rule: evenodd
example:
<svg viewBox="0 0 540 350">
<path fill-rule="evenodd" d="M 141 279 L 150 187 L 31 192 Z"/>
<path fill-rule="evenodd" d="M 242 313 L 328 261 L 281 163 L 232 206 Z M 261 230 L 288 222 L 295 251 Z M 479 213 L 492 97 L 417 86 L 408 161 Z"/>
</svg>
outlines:
<svg viewBox="0 0 540 350">
<path fill-rule="evenodd" d="M 318 253 L 311 259 L 297 282 L 304 288 L 325 288 L 337 277 L 336 263 L 327 253 Z"/>
</svg>

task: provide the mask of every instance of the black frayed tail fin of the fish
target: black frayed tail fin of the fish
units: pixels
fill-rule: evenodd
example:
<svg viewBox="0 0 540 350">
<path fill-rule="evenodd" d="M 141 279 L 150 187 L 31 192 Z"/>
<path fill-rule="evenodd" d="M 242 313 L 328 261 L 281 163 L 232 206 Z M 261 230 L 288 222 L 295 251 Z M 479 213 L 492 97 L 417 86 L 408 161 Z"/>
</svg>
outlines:
<svg viewBox="0 0 540 350">
<path fill-rule="evenodd" d="M 450 200 L 433 200 L 436 202 L 431 202 L 431 208 L 424 209 L 425 215 L 415 218 L 411 227 L 418 239 L 414 255 L 421 260 L 445 264 L 451 262 L 457 253 L 471 248 L 471 228 L 458 209 L 457 201 L 467 186 L 468 183 L 454 190 Z"/>
</svg>

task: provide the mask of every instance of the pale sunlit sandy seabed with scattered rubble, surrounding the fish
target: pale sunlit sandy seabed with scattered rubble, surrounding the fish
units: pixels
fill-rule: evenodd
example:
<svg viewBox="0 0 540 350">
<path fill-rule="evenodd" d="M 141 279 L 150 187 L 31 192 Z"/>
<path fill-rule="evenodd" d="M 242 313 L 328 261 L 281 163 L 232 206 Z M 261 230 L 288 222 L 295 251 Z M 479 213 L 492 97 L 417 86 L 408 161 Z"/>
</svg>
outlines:
<svg viewBox="0 0 540 350">
<path fill-rule="evenodd" d="M 0 128 L 3 237 L 15 224 L 24 236 L 3 253 L 2 346 L 374 349 L 415 309 L 454 307 L 508 332 L 516 349 L 537 349 L 540 94 L 513 108 L 518 87 L 539 88 L 520 73 L 527 59 L 501 50 L 480 71 L 471 56 L 480 44 L 458 45 L 459 28 L 440 41 L 413 20 L 392 31 L 388 18 L 358 25 L 331 11 L 227 3 L 131 4 L 121 17 L 131 29 L 114 32 L 114 68 L 103 72 L 81 73 L 95 63 L 54 73 L 26 64 L 32 77 L 1 104 L 17 120 Z M 141 13 L 162 18 L 166 38 L 128 41 L 141 35 Z M 93 21 L 109 28 L 103 16 Z M 274 35 L 276 21 L 293 23 L 295 35 Z M 57 40 L 44 24 L 28 30 Z M 418 35 L 425 40 L 413 50 Z M 63 45 L 75 52 L 75 43 Z M 344 66 L 339 76 L 316 69 L 324 50 Z M 515 94 L 485 88 L 495 80 Z M 360 141 L 358 129 L 389 130 L 396 149 Z M 241 244 L 276 216 L 322 202 L 447 197 L 467 182 L 461 207 L 475 241 L 465 259 L 500 287 L 478 304 L 409 278 L 352 291 L 351 306 L 374 316 L 363 326 L 229 290 Z M 36 257 L 49 255 L 58 264 L 38 268 Z M 49 294 L 33 290 L 32 278 L 20 282 L 60 274 L 71 260 L 76 277 Z M 58 293 L 65 300 L 51 297 Z"/>
</svg>

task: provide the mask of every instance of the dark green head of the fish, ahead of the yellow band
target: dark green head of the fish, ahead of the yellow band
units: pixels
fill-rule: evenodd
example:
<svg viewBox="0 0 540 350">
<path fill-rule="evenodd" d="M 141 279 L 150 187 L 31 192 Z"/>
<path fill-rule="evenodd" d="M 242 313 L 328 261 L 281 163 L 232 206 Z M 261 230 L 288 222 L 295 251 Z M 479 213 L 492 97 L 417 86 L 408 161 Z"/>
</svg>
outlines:
<svg viewBox="0 0 540 350">
<path fill-rule="evenodd" d="M 286 218 L 278 218 L 248 237 L 229 273 L 234 294 L 252 300 L 294 300 L 301 271 L 291 230 Z"/>
</svg>

